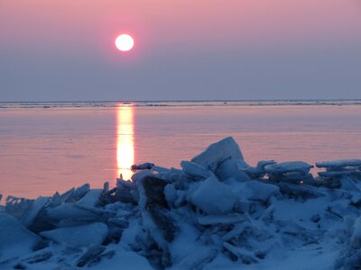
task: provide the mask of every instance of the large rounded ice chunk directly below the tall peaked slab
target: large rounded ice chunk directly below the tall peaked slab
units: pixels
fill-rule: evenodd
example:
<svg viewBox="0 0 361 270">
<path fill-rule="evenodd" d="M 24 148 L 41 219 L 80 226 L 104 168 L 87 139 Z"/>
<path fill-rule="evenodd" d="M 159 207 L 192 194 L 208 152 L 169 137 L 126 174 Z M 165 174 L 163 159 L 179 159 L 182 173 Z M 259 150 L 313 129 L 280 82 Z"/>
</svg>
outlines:
<svg viewBox="0 0 361 270">
<path fill-rule="evenodd" d="M 191 195 L 191 202 L 208 214 L 230 212 L 237 201 L 237 196 L 227 184 L 218 181 L 216 176 L 208 177 Z"/>
</svg>

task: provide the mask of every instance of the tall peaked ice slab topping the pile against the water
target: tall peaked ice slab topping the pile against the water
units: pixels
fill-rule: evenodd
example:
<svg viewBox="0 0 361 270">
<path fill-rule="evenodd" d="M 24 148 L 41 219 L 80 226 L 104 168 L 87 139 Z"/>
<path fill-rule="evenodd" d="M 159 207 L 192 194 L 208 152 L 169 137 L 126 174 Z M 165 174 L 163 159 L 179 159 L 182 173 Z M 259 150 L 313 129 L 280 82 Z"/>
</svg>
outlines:
<svg viewBox="0 0 361 270">
<path fill-rule="evenodd" d="M 244 159 L 235 139 L 227 137 L 211 144 L 204 152 L 193 157 L 191 161 L 214 172 L 220 163 L 231 158 Z"/>
</svg>

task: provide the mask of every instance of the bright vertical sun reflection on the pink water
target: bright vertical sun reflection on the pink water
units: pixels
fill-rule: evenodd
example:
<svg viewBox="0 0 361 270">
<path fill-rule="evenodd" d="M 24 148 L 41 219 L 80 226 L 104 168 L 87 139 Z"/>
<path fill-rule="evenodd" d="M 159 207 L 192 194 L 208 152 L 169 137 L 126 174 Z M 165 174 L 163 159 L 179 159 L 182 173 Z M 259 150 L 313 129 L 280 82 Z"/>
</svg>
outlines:
<svg viewBox="0 0 361 270">
<path fill-rule="evenodd" d="M 120 105 L 116 108 L 116 166 L 117 177 L 130 179 L 130 166 L 134 164 L 134 107 Z"/>
</svg>

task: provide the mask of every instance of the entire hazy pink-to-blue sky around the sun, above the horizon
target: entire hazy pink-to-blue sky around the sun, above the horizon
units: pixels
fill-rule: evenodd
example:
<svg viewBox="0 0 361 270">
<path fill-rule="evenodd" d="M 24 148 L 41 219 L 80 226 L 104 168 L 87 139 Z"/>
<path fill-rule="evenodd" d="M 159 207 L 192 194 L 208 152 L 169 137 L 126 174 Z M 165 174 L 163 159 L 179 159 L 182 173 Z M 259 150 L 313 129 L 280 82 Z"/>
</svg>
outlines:
<svg viewBox="0 0 361 270">
<path fill-rule="evenodd" d="M 360 0 L 0 0 L 0 101 L 291 98 L 361 98 Z"/>
</svg>

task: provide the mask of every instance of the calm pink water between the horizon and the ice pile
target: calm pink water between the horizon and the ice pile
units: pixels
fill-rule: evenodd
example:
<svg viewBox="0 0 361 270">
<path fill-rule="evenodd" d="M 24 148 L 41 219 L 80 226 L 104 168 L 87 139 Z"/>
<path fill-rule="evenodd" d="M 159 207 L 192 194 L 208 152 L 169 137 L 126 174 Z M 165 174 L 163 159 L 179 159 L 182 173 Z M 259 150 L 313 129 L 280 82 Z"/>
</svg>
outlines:
<svg viewBox="0 0 361 270">
<path fill-rule="evenodd" d="M 361 103 L 0 103 L 0 193 L 115 184 L 133 163 L 179 167 L 227 136 L 250 165 L 361 158 Z"/>
</svg>

